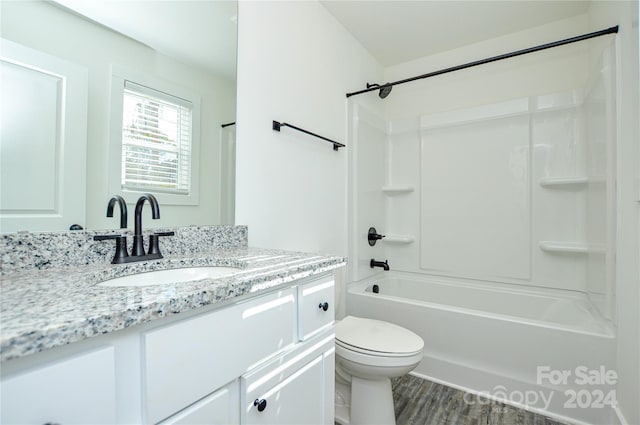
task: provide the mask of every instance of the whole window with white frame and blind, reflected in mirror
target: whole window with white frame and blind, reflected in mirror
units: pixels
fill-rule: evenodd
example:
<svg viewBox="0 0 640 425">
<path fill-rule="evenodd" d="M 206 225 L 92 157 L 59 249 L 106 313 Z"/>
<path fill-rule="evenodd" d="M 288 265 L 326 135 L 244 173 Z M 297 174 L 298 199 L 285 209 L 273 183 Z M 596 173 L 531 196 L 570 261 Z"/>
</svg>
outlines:
<svg viewBox="0 0 640 425">
<path fill-rule="evenodd" d="M 110 190 L 135 202 L 198 203 L 199 97 L 172 83 L 114 70 Z"/>
</svg>

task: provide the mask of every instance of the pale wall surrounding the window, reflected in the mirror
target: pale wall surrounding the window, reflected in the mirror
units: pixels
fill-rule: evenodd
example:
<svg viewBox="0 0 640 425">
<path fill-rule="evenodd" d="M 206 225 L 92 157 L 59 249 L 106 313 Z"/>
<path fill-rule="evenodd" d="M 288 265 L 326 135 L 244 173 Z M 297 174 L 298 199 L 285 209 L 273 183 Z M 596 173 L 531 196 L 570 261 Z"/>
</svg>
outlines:
<svg viewBox="0 0 640 425">
<path fill-rule="evenodd" d="M 141 43 L 44 1 L 3 1 L 1 28 L 4 38 L 89 70 L 87 228 L 104 229 L 119 224 L 117 219 L 105 217 L 107 202 L 113 195 L 107 184 L 111 64 L 168 80 L 202 96 L 200 204 L 189 207 L 162 205 L 161 219 L 152 221 L 149 214 L 144 225 L 220 223 L 220 124 L 235 120 L 233 81 L 158 54 Z M 146 213 L 150 211 L 145 210 Z M 132 227 L 132 220 L 129 224 Z"/>
</svg>

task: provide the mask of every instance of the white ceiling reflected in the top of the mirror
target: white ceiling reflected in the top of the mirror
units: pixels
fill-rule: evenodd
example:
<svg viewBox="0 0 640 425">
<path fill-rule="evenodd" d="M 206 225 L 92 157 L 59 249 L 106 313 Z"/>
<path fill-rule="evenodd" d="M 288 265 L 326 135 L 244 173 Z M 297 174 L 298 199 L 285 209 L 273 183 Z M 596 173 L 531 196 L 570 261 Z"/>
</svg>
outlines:
<svg viewBox="0 0 640 425">
<path fill-rule="evenodd" d="M 182 62 L 235 80 L 235 0 L 54 0 Z"/>
</svg>

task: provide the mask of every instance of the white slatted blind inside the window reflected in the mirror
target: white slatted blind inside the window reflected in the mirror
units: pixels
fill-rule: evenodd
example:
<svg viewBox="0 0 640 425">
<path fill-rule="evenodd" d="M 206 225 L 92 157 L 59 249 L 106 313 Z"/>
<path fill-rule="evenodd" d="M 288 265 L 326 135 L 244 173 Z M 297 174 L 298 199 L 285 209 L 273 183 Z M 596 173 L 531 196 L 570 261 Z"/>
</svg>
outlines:
<svg viewBox="0 0 640 425">
<path fill-rule="evenodd" d="M 123 188 L 189 193 L 192 112 L 189 101 L 125 81 Z"/>
</svg>

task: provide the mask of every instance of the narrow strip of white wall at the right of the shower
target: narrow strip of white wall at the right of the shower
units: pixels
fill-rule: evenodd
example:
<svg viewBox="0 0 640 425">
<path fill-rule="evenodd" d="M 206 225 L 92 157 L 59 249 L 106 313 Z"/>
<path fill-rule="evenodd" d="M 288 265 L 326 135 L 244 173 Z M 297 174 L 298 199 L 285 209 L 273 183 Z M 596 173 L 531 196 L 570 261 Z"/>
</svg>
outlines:
<svg viewBox="0 0 640 425">
<path fill-rule="evenodd" d="M 592 30 L 619 25 L 617 257 L 618 413 L 640 423 L 640 148 L 638 1 L 596 1 L 589 9 Z"/>
</svg>

